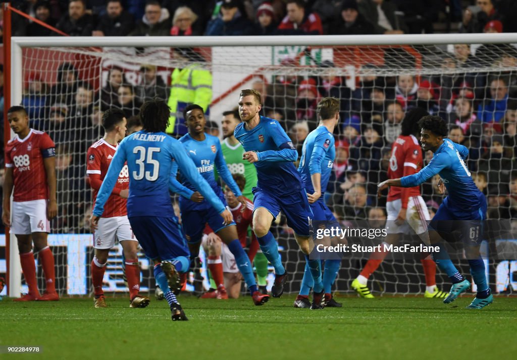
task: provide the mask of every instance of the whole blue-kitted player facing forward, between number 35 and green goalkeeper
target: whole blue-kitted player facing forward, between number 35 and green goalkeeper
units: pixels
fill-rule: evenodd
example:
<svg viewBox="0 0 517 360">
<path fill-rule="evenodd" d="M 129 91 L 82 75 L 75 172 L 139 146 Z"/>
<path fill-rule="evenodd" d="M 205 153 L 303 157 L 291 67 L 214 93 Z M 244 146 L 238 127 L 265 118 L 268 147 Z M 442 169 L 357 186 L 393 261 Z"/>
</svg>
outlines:
<svg viewBox="0 0 517 360">
<path fill-rule="evenodd" d="M 239 187 L 226 166 L 219 139 L 205 133 L 206 118 L 203 108 L 197 104 L 190 104 L 184 110 L 184 118 L 186 120 L 188 133 L 181 137 L 179 141 L 183 143 L 187 149 L 190 158 L 194 161 L 201 176 L 210 184 L 210 187 L 217 194 L 221 202 L 226 203 L 224 194 L 216 183 L 214 175 L 214 167 L 216 167 L 219 176 L 221 176 L 222 180 L 226 183 L 226 186 L 232 189 L 242 206 L 246 206 L 246 199 L 242 196 Z M 171 178 L 176 186 L 175 192 L 181 195 L 179 198 L 181 223 L 183 224 L 183 229 L 189 244 L 191 260 L 195 259 L 199 254 L 204 224 L 208 223 L 210 228 L 214 230 L 235 256 L 235 262 L 244 280 L 248 284 L 253 303 L 255 305 L 266 303 L 269 300 L 269 295 L 262 294 L 258 291 L 255 276 L 253 275 L 253 268 L 248 255 L 240 244 L 235 222 L 232 221 L 229 224 L 222 224 L 220 215 L 207 201 L 204 201 L 204 199 L 200 197 L 201 194 L 197 192 L 197 184 L 185 178 L 183 179 L 183 184 L 180 184 L 176 179 L 176 170 L 177 166 L 173 163 Z M 214 274 L 214 276 L 216 276 L 216 274 Z M 217 291 L 221 293 L 220 297 L 227 297 L 223 279 L 218 276 L 218 278 L 214 278 L 214 280 L 218 288 Z"/>
</svg>

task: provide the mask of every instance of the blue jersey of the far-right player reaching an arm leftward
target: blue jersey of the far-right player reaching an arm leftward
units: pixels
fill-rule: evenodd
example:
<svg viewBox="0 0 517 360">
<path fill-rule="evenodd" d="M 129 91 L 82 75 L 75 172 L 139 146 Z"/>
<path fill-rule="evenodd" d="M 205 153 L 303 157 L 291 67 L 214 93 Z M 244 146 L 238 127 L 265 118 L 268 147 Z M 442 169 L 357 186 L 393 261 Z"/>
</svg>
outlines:
<svg viewBox="0 0 517 360">
<path fill-rule="evenodd" d="M 458 215 L 478 212 L 484 196 L 478 190 L 465 164 L 468 148 L 444 139 L 429 164 L 414 175 L 400 179 L 402 186 L 413 187 L 438 174 L 447 188 L 449 208 Z"/>
</svg>

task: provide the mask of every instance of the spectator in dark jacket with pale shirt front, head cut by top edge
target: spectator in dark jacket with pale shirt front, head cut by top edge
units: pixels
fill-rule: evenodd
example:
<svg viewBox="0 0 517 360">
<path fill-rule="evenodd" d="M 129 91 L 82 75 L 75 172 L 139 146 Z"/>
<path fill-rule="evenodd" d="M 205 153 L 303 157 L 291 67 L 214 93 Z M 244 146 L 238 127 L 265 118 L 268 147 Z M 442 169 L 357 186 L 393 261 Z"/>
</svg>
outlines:
<svg viewBox="0 0 517 360">
<path fill-rule="evenodd" d="M 375 34 L 405 34 L 408 28 L 397 14 L 397 6 L 385 0 L 363 0 L 358 3 L 359 13 L 373 24 Z"/>
</svg>

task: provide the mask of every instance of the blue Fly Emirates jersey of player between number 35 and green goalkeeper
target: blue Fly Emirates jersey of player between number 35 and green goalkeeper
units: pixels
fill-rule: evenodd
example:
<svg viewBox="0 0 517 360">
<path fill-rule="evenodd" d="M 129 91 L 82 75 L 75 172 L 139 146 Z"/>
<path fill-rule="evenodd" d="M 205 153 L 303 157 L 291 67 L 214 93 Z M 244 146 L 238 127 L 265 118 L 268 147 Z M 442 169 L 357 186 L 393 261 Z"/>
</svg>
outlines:
<svg viewBox="0 0 517 360">
<path fill-rule="evenodd" d="M 179 139 L 179 142 L 185 146 L 187 153 L 192 161 L 194 161 L 197 171 L 199 171 L 201 176 L 203 176 L 212 189 L 215 191 L 219 190 L 214 174 L 215 166 L 219 176 L 221 176 L 223 181 L 230 187 L 235 196 L 242 195 L 237 183 L 235 183 L 235 180 L 230 173 L 230 170 L 228 170 L 228 167 L 226 166 L 226 161 L 224 161 L 221 150 L 221 143 L 217 137 L 205 133 L 205 140 L 197 141 L 192 139 L 189 134 L 186 134 Z M 190 199 L 192 193 L 197 191 L 197 186 L 196 184 L 192 184 L 189 179 L 185 177 L 183 177 L 183 183 L 179 184 L 176 180 L 177 170 L 178 166 L 176 162 L 173 162 L 171 176 L 173 177 L 173 182 L 176 186 L 175 192 L 181 194 L 187 199 Z"/>
</svg>

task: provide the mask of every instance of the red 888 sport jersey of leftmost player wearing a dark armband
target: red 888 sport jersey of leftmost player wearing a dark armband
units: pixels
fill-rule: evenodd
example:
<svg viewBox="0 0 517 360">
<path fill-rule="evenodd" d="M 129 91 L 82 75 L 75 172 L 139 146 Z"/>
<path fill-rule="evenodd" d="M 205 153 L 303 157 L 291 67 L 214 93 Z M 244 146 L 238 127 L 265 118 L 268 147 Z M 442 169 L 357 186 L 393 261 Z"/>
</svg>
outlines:
<svg viewBox="0 0 517 360">
<path fill-rule="evenodd" d="M 47 133 L 34 129 L 24 139 L 16 136 L 9 140 L 5 147 L 5 167 L 13 168 L 14 201 L 49 198 L 43 159 L 55 156 L 55 147 Z"/>
</svg>

